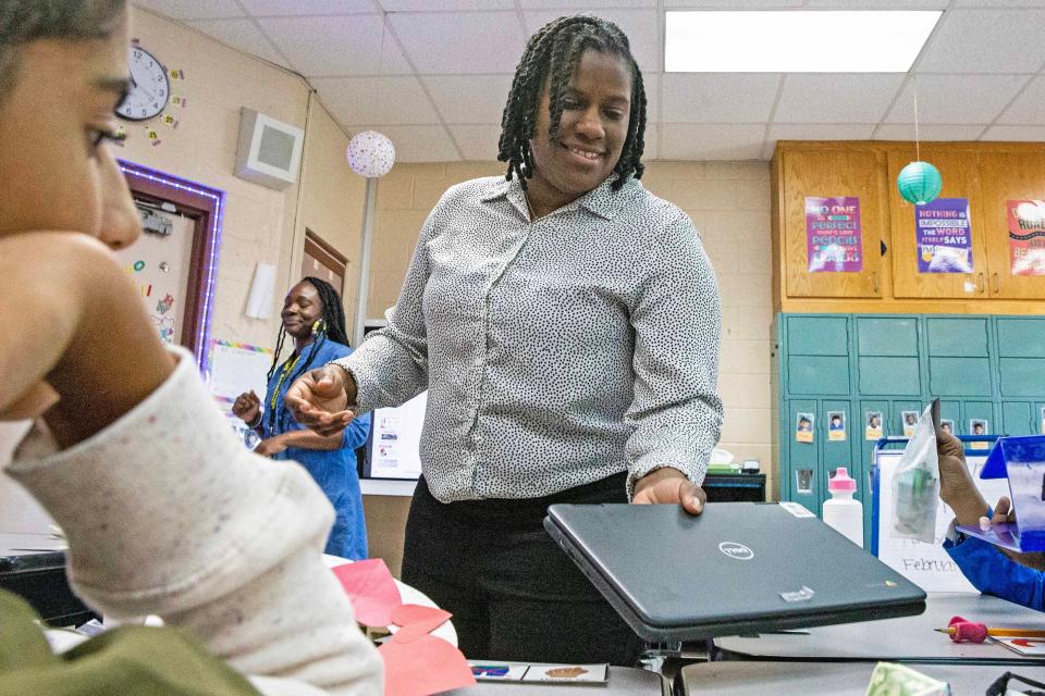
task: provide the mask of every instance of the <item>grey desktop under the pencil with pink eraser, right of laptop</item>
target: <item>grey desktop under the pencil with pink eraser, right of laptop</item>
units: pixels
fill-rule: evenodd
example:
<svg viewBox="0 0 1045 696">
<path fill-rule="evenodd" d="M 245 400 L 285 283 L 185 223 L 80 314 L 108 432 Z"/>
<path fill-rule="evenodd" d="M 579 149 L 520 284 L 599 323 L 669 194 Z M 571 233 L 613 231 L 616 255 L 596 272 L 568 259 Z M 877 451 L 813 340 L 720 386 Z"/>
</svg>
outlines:
<svg viewBox="0 0 1045 696">
<path fill-rule="evenodd" d="M 934 632 L 946 627 L 954 616 L 988 626 L 1045 630 L 1041 611 L 988 595 L 939 593 L 929 595 L 925 612 L 918 617 L 819 626 L 809 629 L 808 635 L 763 634 L 715 638 L 714 643 L 724 659 L 1045 664 L 1045 658 L 1023 657 L 995 643 L 955 643 Z"/>
</svg>

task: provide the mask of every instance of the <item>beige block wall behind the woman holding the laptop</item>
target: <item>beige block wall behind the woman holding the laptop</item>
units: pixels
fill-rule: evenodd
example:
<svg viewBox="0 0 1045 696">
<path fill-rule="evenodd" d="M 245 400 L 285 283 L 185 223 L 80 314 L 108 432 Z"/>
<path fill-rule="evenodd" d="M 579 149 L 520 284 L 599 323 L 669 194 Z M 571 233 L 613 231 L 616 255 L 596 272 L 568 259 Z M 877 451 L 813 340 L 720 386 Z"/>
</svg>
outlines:
<svg viewBox="0 0 1045 696">
<path fill-rule="evenodd" d="M 395 303 L 425 217 L 452 184 L 502 174 L 500 162 L 397 164 L 378 184 L 367 315 Z M 718 387 L 726 417 L 720 447 L 755 457 L 775 495 L 771 447 L 770 165 L 767 162 L 650 162 L 651 191 L 679 206 L 700 229 L 723 304 Z"/>
</svg>

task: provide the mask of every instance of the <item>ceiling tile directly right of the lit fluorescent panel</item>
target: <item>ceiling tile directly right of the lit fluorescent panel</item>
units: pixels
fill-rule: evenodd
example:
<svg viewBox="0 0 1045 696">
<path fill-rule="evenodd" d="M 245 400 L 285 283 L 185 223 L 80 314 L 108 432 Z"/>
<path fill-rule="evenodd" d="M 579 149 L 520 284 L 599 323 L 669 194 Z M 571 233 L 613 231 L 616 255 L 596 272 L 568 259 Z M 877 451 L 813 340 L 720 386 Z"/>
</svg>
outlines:
<svg viewBox="0 0 1045 696">
<path fill-rule="evenodd" d="M 919 73 L 1035 73 L 1045 62 L 1045 10 L 948 10 Z"/>
</svg>

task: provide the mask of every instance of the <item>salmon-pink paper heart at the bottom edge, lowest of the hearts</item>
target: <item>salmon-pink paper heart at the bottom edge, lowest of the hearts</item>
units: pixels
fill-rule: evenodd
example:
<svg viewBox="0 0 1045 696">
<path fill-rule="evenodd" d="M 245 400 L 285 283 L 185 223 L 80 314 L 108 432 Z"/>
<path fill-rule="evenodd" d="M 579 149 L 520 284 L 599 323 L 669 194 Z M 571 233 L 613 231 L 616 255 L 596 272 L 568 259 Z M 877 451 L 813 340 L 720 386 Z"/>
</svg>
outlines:
<svg viewBox="0 0 1045 696">
<path fill-rule="evenodd" d="M 378 651 L 384 660 L 385 696 L 429 696 L 476 683 L 462 651 L 432 635 L 389 641 Z"/>
</svg>

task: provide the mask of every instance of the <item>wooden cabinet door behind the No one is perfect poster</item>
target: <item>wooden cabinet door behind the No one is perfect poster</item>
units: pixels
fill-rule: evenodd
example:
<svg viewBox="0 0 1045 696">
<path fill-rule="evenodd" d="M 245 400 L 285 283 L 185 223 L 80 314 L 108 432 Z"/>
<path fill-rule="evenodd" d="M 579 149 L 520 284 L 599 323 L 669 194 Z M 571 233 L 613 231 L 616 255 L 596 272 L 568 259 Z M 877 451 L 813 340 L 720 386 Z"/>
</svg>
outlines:
<svg viewBox="0 0 1045 696">
<path fill-rule="evenodd" d="M 872 150 L 784 153 L 784 258 L 789 297 L 882 297 L 881 240 L 888 234 L 885 154 Z M 860 199 L 861 258 L 853 273 L 809 271 L 806 198 Z"/>
</svg>

